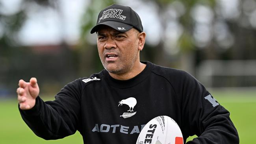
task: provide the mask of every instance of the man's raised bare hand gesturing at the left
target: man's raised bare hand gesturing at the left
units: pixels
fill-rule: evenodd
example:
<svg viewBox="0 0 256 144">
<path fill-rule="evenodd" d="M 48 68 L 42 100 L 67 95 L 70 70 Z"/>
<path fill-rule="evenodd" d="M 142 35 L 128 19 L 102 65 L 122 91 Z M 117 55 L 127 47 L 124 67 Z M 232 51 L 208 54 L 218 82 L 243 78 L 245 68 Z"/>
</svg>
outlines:
<svg viewBox="0 0 256 144">
<path fill-rule="evenodd" d="M 28 110 L 35 106 L 35 99 L 39 94 L 39 87 L 37 85 L 37 79 L 31 78 L 30 82 L 26 82 L 23 79 L 19 81 L 19 88 L 17 89 L 18 101 L 20 109 Z"/>
</svg>

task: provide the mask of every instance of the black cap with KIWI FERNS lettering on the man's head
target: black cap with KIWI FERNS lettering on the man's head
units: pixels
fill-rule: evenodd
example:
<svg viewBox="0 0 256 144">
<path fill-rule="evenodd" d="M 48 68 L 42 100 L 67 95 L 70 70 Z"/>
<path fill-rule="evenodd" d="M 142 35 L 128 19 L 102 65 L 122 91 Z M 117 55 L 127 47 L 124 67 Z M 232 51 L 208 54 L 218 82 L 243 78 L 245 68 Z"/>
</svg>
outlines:
<svg viewBox="0 0 256 144">
<path fill-rule="evenodd" d="M 97 24 L 93 27 L 91 33 L 98 31 L 100 25 L 110 26 L 118 31 L 128 31 L 131 28 L 135 28 L 139 32 L 143 31 L 139 15 L 131 7 L 120 4 L 112 4 L 102 9 L 98 15 Z"/>
</svg>

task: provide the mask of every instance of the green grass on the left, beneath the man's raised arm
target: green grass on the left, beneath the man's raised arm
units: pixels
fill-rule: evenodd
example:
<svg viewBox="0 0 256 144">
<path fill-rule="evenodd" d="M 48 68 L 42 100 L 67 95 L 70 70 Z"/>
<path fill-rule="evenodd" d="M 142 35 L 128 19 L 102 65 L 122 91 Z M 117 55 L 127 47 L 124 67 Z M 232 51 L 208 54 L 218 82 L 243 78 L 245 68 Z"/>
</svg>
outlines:
<svg viewBox="0 0 256 144">
<path fill-rule="evenodd" d="M 0 115 L 0 144 L 83 144 L 78 131 L 59 140 L 37 137 L 22 120 L 16 100 L 0 99 Z"/>
</svg>

